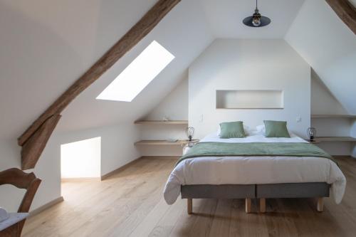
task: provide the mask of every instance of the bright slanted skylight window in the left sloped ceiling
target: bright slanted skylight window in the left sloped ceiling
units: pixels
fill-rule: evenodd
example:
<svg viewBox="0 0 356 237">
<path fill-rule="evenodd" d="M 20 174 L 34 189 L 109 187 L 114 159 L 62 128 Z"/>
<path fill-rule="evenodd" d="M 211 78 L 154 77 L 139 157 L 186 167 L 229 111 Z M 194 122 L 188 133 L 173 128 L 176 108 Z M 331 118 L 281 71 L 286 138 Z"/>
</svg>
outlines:
<svg viewBox="0 0 356 237">
<path fill-rule="evenodd" d="M 172 53 L 153 41 L 97 99 L 132 101 L 173 59 Z"/>
</svg>

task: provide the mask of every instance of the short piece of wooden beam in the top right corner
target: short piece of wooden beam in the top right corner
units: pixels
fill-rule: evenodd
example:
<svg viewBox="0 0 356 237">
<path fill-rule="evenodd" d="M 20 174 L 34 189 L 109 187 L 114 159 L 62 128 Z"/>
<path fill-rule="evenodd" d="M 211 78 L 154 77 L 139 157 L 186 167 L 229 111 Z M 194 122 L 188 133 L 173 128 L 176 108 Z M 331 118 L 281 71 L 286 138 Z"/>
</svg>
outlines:
<svg viewBox="0 0 356 237">
<path fill-rule="evenodd" d="M 356 8 L 348 0 L 325 0 L 356 35 Z"/>
</svg>

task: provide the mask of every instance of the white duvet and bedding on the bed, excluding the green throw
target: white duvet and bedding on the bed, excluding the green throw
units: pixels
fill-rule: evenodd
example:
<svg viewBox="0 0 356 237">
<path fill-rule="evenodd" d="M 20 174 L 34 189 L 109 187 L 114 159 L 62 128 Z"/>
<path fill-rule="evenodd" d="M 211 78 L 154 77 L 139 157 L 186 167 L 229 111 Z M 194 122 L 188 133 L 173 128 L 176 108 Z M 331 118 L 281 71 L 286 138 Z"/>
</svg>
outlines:
<svg viewBox="0 0 356 237">
<path fill-rule="evenodd" d="M 211 134 L 200 142 L 305 142 L 290 138 L 250 135 L 220 139 Z M 180 186 L 187 184 L 281 184 L 326 182 L 337 204 L 345 192 L 346 179 L 337 164 L 322 157 L 198 157 L 185 159 L 174 167 L 164 187 L 164 199 L 173 204 Z"/>
</svg>

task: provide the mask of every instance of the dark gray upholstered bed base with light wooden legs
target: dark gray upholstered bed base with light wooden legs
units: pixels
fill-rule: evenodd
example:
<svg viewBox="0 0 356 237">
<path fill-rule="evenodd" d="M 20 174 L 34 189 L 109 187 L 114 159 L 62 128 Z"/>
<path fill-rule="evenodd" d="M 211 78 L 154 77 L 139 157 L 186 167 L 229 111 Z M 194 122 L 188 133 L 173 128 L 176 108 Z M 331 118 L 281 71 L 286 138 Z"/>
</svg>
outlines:
<svg viewBox="0 0 356 237">
<path fill-rule="evenodd" d="M 188 214 L 192 214 L 192 199 L 246 199 L 246 213 L 251 212 L 251 199 L 260 199 L 260 211 L 266 211 L 266 199 L 318 198 L 318 211 L 323 211 L 323 197 L 329 196 L 330 184 L 197 184 L 182 185 L 182 199 L 188 199 Z"/>
</svg>

